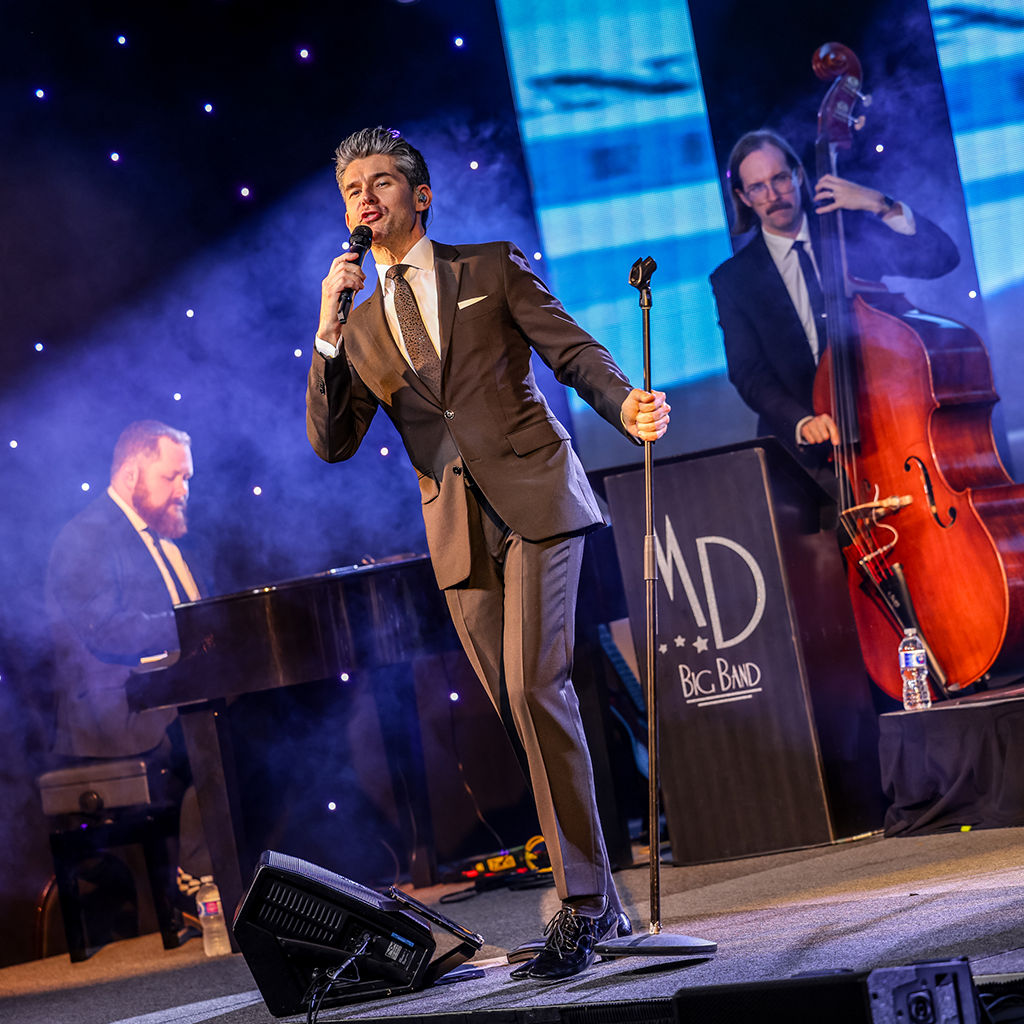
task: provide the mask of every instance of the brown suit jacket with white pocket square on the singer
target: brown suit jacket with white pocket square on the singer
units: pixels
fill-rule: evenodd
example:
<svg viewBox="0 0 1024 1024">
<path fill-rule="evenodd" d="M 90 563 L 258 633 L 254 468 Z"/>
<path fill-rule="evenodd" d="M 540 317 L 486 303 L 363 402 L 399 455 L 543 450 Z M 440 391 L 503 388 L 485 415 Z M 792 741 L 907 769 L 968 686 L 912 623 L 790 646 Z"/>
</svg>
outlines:
<svg viewBox="0 0 1024 1024">
<path fill-rule="evenodd" d="M 620 411 L 631 386 L 511 243 L 435 242 L 433 250 L 441 401 L 391 338 L 378 283 L 345 325 L 344 357 L 313 352 L 306 431 L 322 459 L 340 462 L 355 454 L 384 408 L 419 475 L 427 544 L 444 589 L 470 573 L 466 471 L 526 540 L 602 522 L 569 433 L 537 386 L 531 350 L 624 433 Z M 479 301 L 460 309 L 467 299 Z"/>
</svg>

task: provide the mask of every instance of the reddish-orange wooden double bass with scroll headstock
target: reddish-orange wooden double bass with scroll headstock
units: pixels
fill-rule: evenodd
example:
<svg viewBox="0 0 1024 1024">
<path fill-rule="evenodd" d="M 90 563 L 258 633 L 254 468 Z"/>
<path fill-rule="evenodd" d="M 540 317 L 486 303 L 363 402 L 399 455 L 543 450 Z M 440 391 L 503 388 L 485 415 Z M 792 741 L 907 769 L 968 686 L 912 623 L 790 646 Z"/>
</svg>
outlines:
<svg viewBox="0 0 1024 1024">
<path fill-rule="evenodd" d="M 852 50 L 826 43 L 817 175 L 837 173 L 867 105 Z M 842 211 L 819 215 L 827 347 L 814 411 L 839 427 L 840 539 L 868 674 L 902 692 L 897 645 L 913 627 L 935 690 L 1024 674 L 1024 485 L 996 452 L 999 400 L 970 328 L 924 312 L 846 264 Z"/>
</svg>

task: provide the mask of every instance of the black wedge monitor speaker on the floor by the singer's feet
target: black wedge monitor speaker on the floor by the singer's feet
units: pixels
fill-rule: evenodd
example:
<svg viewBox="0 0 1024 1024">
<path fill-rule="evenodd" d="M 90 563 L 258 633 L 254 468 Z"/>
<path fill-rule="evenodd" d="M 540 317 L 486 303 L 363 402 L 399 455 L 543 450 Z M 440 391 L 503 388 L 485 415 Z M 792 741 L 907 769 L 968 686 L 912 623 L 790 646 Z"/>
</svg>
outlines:
<svg viewBox="0 0 1024 1024">
<path fill-rule="evenodd" d="M 431 963 L 428 921 L 461 944 Z M 324 867 L 266 851 L 234 916 L 234 938 L 274 1017 L 398 995 L 431 984 L 483 944 L 404 893 L 383 896 Z"/>
</svg>

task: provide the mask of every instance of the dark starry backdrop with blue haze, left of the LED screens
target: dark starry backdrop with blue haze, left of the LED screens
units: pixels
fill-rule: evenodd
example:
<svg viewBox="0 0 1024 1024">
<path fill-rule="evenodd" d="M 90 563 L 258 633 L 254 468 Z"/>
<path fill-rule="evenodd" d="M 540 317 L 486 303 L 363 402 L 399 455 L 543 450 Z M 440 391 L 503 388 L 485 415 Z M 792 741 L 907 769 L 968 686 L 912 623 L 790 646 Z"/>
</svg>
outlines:
<svg viewBox="0 0 1024 1024">
<path fill-rule="evenodd" d="M 0 964 L 32 955 L 49 873 L 46 558 L 106 486 L 128 422 L 191 434 L 189 539 L 214 591 L 425 550 L 385 417 L 341 466 L 305 438 L 319 282 L 348 234 L 334 146 L 367 123 L 403 129 L 432 168 L 437 237 L 539 250 L 494 9 L 368 4 L 387 39 L 371 66 L 347 9 L 0 9 Z M 415 103 L 388 53 L 419 79 Z M 282 694 L 272 728 L 247 731 L 265 740 L 250 788 L 278 807 L 267 827 L 297 853 L 290 835 L 317 836 L 317 862 L 350 851 L 350 874 L 392 870 L 342 763 L 358 723 L 302 700 Z"/>
</svg>

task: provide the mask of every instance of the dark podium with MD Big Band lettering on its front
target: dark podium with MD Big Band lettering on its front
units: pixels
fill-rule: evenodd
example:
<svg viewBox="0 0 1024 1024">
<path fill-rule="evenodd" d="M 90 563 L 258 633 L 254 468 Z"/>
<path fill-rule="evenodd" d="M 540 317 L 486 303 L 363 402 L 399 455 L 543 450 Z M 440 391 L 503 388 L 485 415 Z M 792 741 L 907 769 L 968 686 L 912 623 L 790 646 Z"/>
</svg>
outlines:
<svg viewBox="0 0 1024 1024">
<path fill-rule="evenodd" d="M 774 438 L 656 462 L 653 479 L 673 862 L 880 828 L 878 721 L 836 532 L 822 528 L 834 502 Z M 643 471 L 604 485 L 645 673 Z"/>
</svg>

